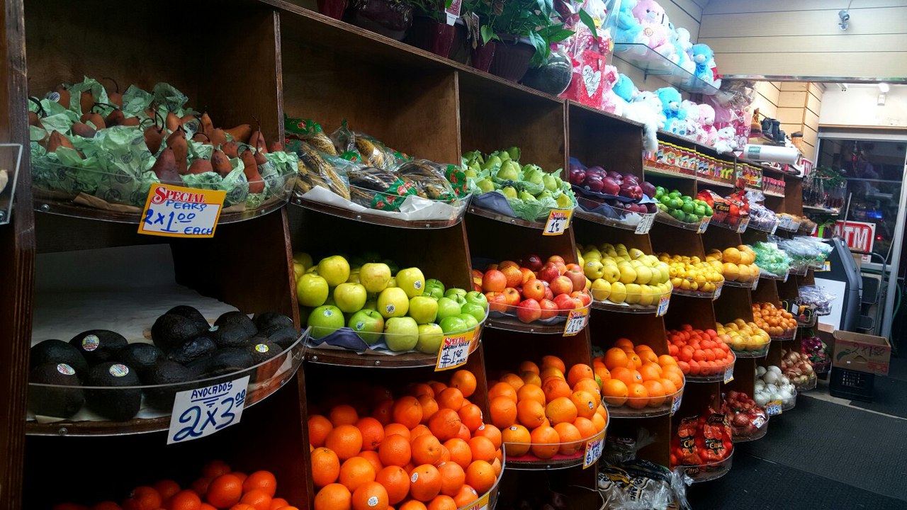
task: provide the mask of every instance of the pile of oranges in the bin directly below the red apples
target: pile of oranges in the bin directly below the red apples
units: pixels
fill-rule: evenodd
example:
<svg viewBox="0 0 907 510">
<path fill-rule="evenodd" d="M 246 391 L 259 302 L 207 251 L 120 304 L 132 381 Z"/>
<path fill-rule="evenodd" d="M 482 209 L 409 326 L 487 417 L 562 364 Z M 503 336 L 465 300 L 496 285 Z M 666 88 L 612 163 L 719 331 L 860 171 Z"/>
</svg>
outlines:
<svg viewBox="0 0 907 510">
<path fill-rule="evenodd" d="M 510 459 L 580 456 L 586 440 L 608 427 L 600 384 L 589 365 L 573 365 L 545 356 L 524 361 L 519 374 L 503 373 L 489 381 L 491 422 L 502 430 Z"/>
</svg>

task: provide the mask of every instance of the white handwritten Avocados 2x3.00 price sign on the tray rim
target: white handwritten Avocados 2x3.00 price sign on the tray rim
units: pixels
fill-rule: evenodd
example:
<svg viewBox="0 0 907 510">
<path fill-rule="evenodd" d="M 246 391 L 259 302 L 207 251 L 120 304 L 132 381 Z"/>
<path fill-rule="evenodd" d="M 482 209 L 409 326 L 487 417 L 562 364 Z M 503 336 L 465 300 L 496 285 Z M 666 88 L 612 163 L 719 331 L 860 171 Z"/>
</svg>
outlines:
<svg viewBox="0 0 907 510">
<path fill-rule="evenodd" d="M 210 436 L 221 428 L 238 424 L 246 406 L 248 386 L 249 376 L 246 376 L 178 392 L 173 400 L 167 444 Z"/>
</svg>

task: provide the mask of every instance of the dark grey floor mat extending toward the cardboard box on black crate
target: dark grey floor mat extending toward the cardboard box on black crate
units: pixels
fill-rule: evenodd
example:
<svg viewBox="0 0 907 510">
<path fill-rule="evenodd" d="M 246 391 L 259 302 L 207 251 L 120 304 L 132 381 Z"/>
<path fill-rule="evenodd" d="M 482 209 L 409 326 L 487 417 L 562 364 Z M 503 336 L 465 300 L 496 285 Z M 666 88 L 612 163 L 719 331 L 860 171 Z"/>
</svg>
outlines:
<svg viewBox="0 0 907 510">
<path fill-rule="evenodd" d="M 907 423 L 898 418 L 799 397 L 765 438 L 739 450 L 907 502 Z"/>
</svg>

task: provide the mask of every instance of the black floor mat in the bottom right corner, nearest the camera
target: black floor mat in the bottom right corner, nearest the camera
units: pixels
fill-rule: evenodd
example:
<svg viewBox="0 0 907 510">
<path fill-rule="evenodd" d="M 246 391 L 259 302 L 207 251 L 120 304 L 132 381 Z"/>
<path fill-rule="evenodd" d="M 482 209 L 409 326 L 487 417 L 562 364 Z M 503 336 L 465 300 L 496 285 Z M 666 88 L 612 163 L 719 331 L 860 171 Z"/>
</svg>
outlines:
<svg viewBox="0 0 907 510">
<path fill-rule="evenodd" d="M 769 429 L 768 434 L 772 434 Z M 764 441 L 770 439 L 763 439 Z M 754 443 L 755 444 L 755 443 Z M 866 508 L 904 510 L 907 502 L 749 456 L 739 448 L 730 472 L 689 488 L 693 510 L 799 510 Z"/>
</svg>

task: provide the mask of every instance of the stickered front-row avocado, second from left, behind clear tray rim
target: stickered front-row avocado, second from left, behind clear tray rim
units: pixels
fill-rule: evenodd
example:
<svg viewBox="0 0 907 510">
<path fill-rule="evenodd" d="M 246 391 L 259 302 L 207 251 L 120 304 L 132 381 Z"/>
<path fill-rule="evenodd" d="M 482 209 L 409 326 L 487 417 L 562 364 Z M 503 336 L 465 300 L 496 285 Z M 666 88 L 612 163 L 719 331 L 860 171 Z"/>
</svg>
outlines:
<svg viewBox="0 0 907 510">
<path fill-rule="evenodd" d="M 85 401 L 93 412 L 113 421 L 132 419 L 141 407 L 141 389 L 122 388 L 139 386 L 141 381 L 135 370 L 122 363 L 105 361 L 88 371 L 85 386 L 110 387 L 85 390 Z"/>
</svg>

